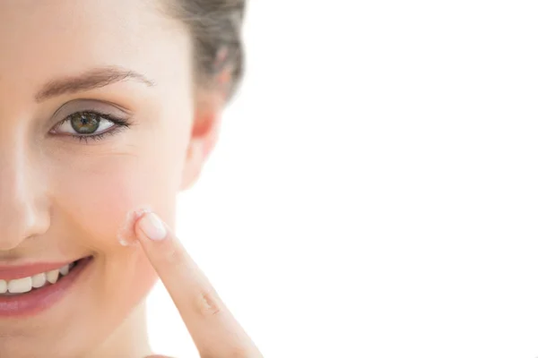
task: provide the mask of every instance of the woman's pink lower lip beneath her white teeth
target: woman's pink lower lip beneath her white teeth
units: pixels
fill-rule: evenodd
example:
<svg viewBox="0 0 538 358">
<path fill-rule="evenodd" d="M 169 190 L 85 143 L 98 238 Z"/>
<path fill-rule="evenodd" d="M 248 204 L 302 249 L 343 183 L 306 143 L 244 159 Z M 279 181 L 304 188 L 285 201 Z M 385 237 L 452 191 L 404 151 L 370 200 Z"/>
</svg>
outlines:
<svg viewBox="0 0 538 358">
<path fill-rule="evenodd" d="M 13 296 L 0 295 L 0 317 L 31 316 L 59 302 L 73 286 L 78 277 L 91 264 L 92 258 L 78 260 L 77 264 L 65 277 L 61 277 L 56 284 L 33 289 L 27 294 Z"/>
</svg>

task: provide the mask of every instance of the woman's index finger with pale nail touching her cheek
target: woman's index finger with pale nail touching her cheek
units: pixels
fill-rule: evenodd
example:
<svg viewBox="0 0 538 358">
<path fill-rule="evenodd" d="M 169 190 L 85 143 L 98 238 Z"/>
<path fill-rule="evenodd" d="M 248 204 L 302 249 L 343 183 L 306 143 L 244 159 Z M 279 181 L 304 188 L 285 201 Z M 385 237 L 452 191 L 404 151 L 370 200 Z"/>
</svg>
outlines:
<svg viewBox="0 0 538 358">
<path fill-rule="evenodd" d="M 134 233 L 202 357 L 262 356 L 169 226 L 146 212 L 135 222 Z"/>
</svg>

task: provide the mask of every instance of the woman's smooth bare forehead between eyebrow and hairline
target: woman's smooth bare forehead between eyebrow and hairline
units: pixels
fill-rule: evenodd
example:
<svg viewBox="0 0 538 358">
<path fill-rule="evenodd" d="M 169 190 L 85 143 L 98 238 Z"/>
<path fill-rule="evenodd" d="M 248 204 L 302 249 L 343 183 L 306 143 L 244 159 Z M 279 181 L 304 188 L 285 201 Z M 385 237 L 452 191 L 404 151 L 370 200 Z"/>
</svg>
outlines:
<svg viewBox="0 0 538 358">
<path fill-rule="evenodd" d="M 187 33 L 157 5 L 150 0 L 1 1 L 0 98 L 13 97 L 13 91 L 28 95 L 51 78 L 108 65 L 166 76 L 166 61 L 187 58 Z"/>
</svg>

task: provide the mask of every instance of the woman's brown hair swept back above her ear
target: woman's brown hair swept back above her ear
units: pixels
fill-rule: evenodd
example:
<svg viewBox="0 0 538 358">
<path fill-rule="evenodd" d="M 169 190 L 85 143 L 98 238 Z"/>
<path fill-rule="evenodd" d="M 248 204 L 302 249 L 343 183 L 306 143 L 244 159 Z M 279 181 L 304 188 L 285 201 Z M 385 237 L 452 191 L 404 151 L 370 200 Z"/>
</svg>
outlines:
<svg viewBox="0 0 538 358">
<path fill-rule="evenodd" d="M 243 74 L 241 25 L 246 0 L 163 0 L 167 13 L 187 25 L 193 39 L 197 85 L 211 87 L 225 66 L 230 66 L 228 98 Z"/>
</svg>

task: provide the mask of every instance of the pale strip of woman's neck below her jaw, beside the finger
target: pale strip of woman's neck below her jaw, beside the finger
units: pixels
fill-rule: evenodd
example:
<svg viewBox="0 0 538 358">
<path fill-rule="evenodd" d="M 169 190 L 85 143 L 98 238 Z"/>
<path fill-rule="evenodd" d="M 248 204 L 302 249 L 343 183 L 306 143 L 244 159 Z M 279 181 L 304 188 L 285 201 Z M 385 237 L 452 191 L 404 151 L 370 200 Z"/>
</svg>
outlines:
<svg viewBox="0 0 538 358">
<path fill-rule="evenodd" d="M 133 357 L 152 355 L 146 324 L 145 300 L 108 339 L 84 358 Z"/>
</svg>

